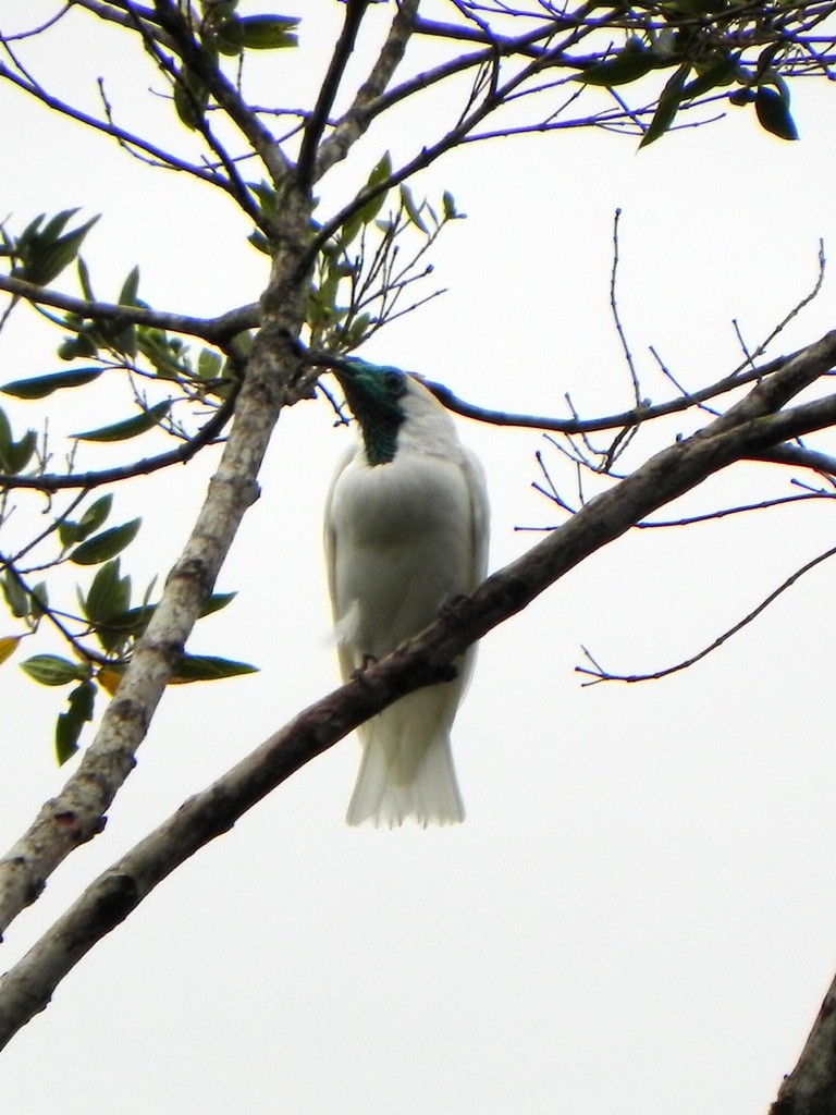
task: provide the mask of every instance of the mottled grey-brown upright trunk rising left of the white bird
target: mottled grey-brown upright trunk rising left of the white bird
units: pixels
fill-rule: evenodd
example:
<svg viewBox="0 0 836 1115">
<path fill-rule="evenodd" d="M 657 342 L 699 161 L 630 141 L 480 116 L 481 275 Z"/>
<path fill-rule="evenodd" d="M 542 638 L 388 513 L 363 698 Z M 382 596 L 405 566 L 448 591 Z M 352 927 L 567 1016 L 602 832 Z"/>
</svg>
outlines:
<svg viewBox="0 0 836 1115">
<path fill-rule="evenodd" d="M 253 342 L 217 472 L 95 739 L 58 796 L 42 806 L 0 861 L 0 932 L 38 896 L 58 864 L 101 831 L 105 812 L 134 767 L 136 749 L 244 513 L 257 497 L 255 478 L 279 413 L 300 397 L 304 377 L 294 338 L 304 320 L 307 283 L 291 285 L 286 275 L 295 272 L 293 245 L 308 234 L 307 200 L 289 192 L 281 220 L 286 234 L 276 250 L 263 298 L 264 321 Z"/>
</svg>

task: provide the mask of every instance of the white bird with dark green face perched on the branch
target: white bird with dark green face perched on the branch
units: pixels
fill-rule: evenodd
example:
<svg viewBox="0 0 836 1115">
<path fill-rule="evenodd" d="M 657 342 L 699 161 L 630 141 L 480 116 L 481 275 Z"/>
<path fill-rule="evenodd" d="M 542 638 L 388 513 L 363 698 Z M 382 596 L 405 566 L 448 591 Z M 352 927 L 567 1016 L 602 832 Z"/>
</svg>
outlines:
<svg viewBox="0 0 836 1115">
<path fill-rule="evenodd" d="M 324 550 L 344 681 L 485 579 L 485 473 L 416 374 L 356 357 L 331 369 L 360 437 L 325 503 Z M 464 821 L 450 729 L 476 649 L 456 677 L 399 698 L 358 729 L 362 759 L 347 822 L 396 827 Z"/>
</svg>

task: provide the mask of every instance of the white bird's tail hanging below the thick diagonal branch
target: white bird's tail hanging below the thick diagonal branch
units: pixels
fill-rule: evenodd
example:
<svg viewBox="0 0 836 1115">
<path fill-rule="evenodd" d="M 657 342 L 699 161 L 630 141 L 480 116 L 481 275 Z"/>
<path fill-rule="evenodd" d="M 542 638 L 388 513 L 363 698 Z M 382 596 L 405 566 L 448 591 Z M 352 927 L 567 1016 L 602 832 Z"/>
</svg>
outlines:
<svg viewBox="0 0 836 1115">
<path fill-rule="evenodd" d="M 346 817 L 350 825 L 371 821 L 392 828 L 407 817 L 425 827 L 464 821 L 449 735 L 458 701 L 445 692 L 448 686 L 401 697 L 363 725 L 363 757 Z"/>
</svg>

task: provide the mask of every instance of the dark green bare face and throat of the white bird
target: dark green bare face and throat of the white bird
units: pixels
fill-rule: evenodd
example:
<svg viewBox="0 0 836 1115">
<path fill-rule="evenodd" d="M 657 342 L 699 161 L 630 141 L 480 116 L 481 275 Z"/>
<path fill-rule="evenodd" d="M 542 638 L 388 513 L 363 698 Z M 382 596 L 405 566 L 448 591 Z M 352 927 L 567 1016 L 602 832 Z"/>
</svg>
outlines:
<svg viewBox="0 0 836 1115">
<path fill-rule="evenodd" d="M 411 377 L 400 368 L 367 363 L 354 357 L 346 358 L 341 367 L 332 370 L 360 424 L 369 464 L 393 460 L 398 430 L 407 418 L 404 400 L 410 392 Z"/>
</svg>

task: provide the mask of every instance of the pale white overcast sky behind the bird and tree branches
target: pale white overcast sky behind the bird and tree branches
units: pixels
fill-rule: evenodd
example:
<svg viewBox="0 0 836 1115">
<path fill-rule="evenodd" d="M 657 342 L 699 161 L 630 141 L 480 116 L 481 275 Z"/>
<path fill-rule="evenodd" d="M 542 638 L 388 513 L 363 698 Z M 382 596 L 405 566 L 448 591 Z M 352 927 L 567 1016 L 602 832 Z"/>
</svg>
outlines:
<svg viewBox="0 0 836 1115">
<path fill-rule="evenodd" d="M 22 23 L 54 6 L 3 9 Z M 311 55 L 282 58 L 294 103 L 320 72 L 334 10 L 311 3 Z M 106 72 L 115 95 L 124 90 L 121 110 L 150 104 L 164 119 L 167 106 L 134 99 L 148 71 L 123 62 L 113 36 L 81 26 L 70 41 L 50 40 L 37 72 L 90 104 Z M 628 406 L 607 308 L 621 206 L 621 311 L 645 394 L 669 391 L 651 343 L 688 387 L 719 378 L 739 360 L 731 319 L 756 345 L 813 285 L 818 239 L 834 242 L 827 94 L 794 89 L 798 144 L 735 110 L 640 154 L 632 139 L 579 132 L 455 155 L 416 186 L 449 187 L 468 213 L 434 259 L 449 293 L 363 355 L 508 410 L 563 415 L 566 390 L 586 415 Z M 387 145 L 411 149 L 416 122 L 426 113 L 398 136 L 369 136 L 339 181 L 362 181 Z M 136 262 L 140 295 L 158 308 L 212 313 L 259 295 L 263 258 L 210 191 L 137 167 L 3 87 L 0 125 L 0 210 L 16 230 L 41 211 L 101 212 L 85 256 L 103 297 Z M 322 196 L 327 212 L 339 183 Z M 62 283 L 72 290 L 69 273 Z M 828 279 L 772 355 L 830 328 L 832 303 Z M 27 310 L 16 316 L 0 338 L 0 380 L 56 370 L 52 336 Z M 35 404 L 7 409 L 16 428 L 38 423 Z M 79 392 L 54 419 L 56 435 L 89 428 L 91 415 L 121 416 L 115 398 Z M 320 520 L 348 435 L 331 427 L 324 405 L 282 417 L 262 498 L 218 584 L 239 599 L 192 644 L 261 673 L 166 696 L 105 835 L 14 923 L 3 968 L 186 795 L 336 683 Z M 691 428 L 681 418 L 648 433 L 632 462 Z M 488 471 L 496 569 L 532 541 L 515 526 L 555 522 L 529 488 L 546 447 L 536 433 L 473 423 L 463 435 Z M 568 484 L 556 455 L 550 462 Z M 146 516 L 124 558 L 138 585 L 176 556 L 211 467 L 201 459 L 117 493 L 115 522 Z M 788 482 L 740 467 L 679 510 L 762 498 Z M 19 503 L 21 523 L 40 511 Z M 358 754 L 353 740 L 337 746 L 65 980 L 0 1057 L 4 1111 L 764 1111 L 836 951 L 833 571 L 819 568 L 721 651 L 662 682 L 582 689 L 573 668 L 581 643 L 628 672 L 698 650 L 833 544 L 832 515 L 808 503 L 634 532 L 585 562 L 482 647 L 454 735 L 465 825 L 348 830 Z M 60 648 L 29 652 L 47 649 Z M 0 841 L 10 844 L 66 776 L 51 757 L 64 695 L 28 682 L 13 660 L 2 687 Z"/>
</svg>

